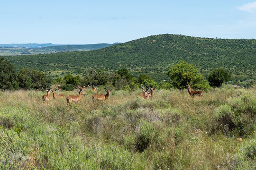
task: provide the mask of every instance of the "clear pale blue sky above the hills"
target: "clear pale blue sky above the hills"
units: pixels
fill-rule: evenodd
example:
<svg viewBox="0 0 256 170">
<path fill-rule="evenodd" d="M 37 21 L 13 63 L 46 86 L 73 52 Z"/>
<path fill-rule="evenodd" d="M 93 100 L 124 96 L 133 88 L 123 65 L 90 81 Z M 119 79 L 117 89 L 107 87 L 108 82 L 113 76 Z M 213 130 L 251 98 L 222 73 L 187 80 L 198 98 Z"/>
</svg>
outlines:
<svg viewBox="0 0 256 170">
<path fill-rule="evenodd" d="M 128 42 L 155 34 L 256 39 L 255 0 L 1 0 L 0 44 Z"/>
</svg>

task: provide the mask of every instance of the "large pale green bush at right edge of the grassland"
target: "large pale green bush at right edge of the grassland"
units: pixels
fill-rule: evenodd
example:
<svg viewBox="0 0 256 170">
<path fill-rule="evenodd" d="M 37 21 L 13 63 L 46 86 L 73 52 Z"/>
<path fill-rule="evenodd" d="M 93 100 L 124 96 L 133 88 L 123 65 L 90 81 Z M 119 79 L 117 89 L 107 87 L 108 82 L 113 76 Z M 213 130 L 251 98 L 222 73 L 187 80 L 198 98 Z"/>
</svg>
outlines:
<svg viewBox="0 0 256 170">
<path fill-rule="evenodd" d="M 256 99 L 253 94 L 231 98 L 214 114 L 217 128 L 226 135 L 248 136 L 255 130 Z"/>
</svg>

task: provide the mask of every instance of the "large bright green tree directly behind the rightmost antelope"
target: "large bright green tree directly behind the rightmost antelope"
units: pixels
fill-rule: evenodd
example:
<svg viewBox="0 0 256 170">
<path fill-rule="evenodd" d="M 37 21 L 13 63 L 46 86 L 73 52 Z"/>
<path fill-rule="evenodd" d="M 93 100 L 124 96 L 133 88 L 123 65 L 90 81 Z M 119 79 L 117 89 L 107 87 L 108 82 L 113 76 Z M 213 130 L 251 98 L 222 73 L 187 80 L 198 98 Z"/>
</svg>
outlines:
<svg viewBox="0 0 256 170">
<path fill-rule="evenodd" d="M 210 88 L 210 85 L 204 80 L 199 70 L 193 64 L 188 64 L 186 61 L 179 61 L 178 64 L 170 67 L 167 75 L 170 76 L 170 84 L 174 88 L 183 89 L 186 88 L 187 84 L 193 84 L 194 88 L 205 90 Z"/>
</svg>

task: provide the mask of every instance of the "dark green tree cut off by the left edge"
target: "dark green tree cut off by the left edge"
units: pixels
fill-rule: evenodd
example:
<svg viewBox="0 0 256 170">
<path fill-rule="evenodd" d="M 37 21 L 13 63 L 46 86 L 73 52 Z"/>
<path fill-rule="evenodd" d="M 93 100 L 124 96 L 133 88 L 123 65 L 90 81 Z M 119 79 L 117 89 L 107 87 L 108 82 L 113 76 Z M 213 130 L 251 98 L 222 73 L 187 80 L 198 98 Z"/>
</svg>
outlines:
<svg viewBox="0 0 256 170">
<path fill-rule="evenodd" d="M 0 58 L 0 89 L 18 89 L 16 69 L 3 57 Z"/>
</svg>

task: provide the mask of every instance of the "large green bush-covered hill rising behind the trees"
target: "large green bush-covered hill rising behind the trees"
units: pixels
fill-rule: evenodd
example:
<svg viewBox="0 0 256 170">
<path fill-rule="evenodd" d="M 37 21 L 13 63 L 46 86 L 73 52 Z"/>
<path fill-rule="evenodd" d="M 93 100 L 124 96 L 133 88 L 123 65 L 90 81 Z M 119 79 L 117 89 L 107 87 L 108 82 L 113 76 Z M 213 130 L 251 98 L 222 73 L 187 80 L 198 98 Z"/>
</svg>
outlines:
<svg viewBox="0 0 256 170">
<path fill-rule="evenodd" d="M 35 68 L 52 75 L 82 74 L 84 68 L 116 71 L 128 68 L 135 76 L 146 73 L 166 79 L 168 67 L 179 60 L 196 65 L 203 75 L 227 68 L 235 79 L 256 79 L 256 40 L 197 38 L 161 34 L 94 51 L 61 52 L 6 57 L 17 68 Z"/>
</svg>

